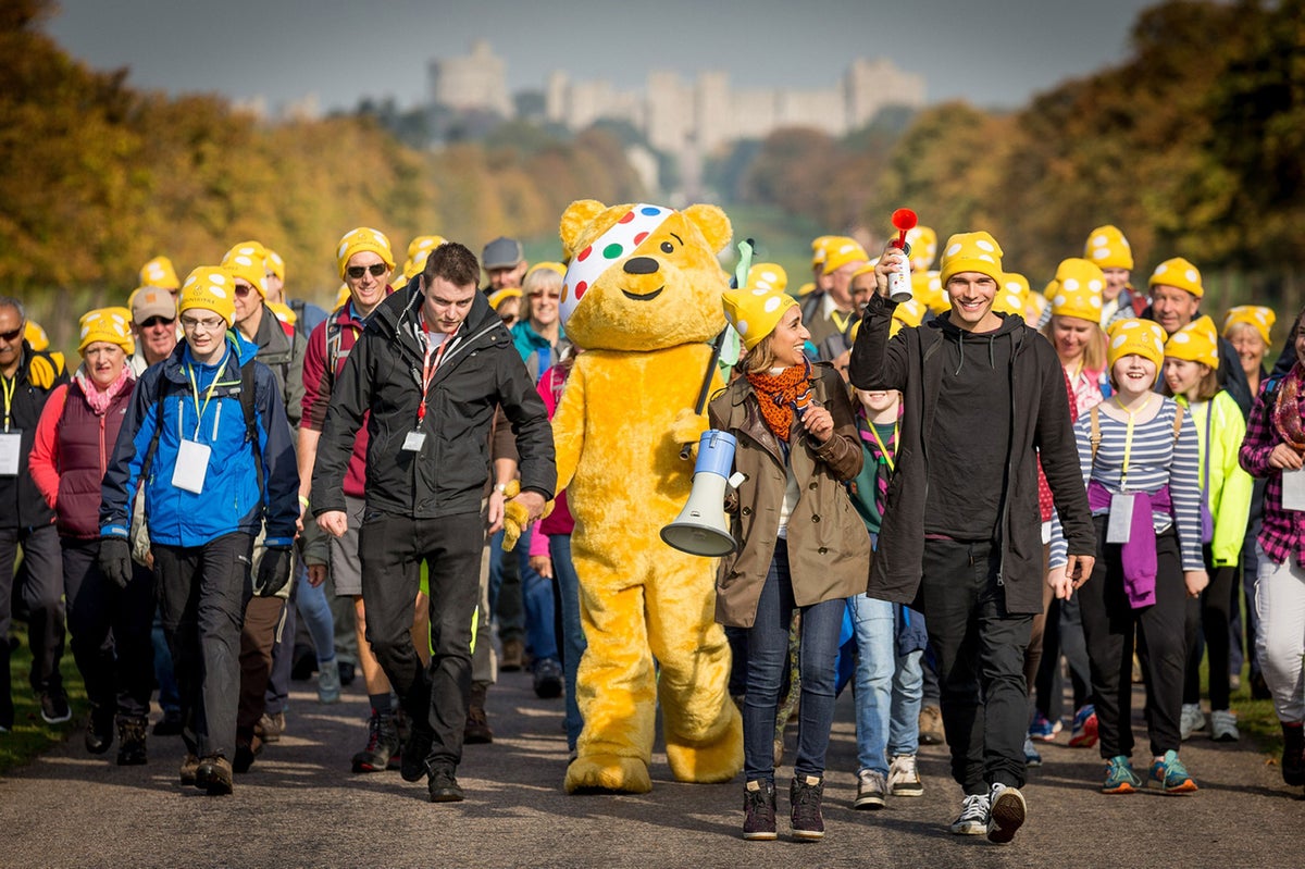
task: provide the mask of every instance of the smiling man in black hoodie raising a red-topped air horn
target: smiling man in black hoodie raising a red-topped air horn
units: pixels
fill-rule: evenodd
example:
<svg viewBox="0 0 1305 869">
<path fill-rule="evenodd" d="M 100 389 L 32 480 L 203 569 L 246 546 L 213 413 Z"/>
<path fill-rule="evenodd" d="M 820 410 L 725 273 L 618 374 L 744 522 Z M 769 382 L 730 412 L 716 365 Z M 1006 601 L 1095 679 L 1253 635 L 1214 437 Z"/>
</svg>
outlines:
<svg viewBox="0 0 1305 869">
<path fill-rule="evenodd" d="M 987 232 L 951 236 L 941 274 L 950 313 L 890 341 L 887 278 L 903 258 L 889 247 L 876 266 L 848 372 L 859 389 L 903 394 L 867 591 L 925 615 L 951 775 L 964 789 L 951 831 L 1005 843 L 1024 821 L 1024 650 L 1045 578 L 1039 457 L 1074 587 L 1092 573 L 1096 535 L 1056 351 L 1018 314 L 992 311 L 1001 248 Z"/>
</svg>

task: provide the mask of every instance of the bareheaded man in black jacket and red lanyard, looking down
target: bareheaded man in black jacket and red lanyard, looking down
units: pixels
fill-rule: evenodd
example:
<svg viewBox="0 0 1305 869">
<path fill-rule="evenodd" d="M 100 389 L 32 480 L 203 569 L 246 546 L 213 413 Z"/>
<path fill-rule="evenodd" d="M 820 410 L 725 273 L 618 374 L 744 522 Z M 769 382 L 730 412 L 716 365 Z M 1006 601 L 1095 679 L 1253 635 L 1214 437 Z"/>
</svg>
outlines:
<svg viewBox="0 0 1305 869">
<path fill-rule="evenodd" d="M 479 264 L 461 244 L 431 252 L 420 281 L 368 320 L 331 394 L 312 505 L 317 525 L 346 527 L 342 483 L 368 418 L 367 506 L 359 539 L 367 639 L 412 732 L 402 774 L 428 779 L 432 802 L 462 800 L 454 772 L 471 692 L 471 625 L 480 599 L 482 514 L 489 427 L 502 407 L 521 454 L 517 501 L 534 521 L 553 496 L 552 429 L 502 320 L 476 291 Z M 412 599 L 429 568 L 431 664 L 412 645 Z"/>
</svg>

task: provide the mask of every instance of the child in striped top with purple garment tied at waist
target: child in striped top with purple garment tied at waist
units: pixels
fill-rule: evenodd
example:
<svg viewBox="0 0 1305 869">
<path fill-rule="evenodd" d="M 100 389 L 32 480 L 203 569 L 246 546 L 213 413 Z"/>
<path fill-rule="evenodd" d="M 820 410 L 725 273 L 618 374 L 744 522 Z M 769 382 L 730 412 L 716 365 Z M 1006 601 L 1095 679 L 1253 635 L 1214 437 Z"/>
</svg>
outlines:
<svg viewBox="0 0 1305 869">
<path fill-rule="evenodd" d="M 1114 394 L 1074 424 L 1083 480 L 1098 531 L 1092 577 L 1078 590 L 1091 662 L 1104 793 L 1142 787 L 1133 771 L 1129 678 L 1134 634 L 1146 673 L 1151 782 L 1165 793 L 1197 789 L 1178 759 L 1186 599 L 1208 578 L 1201 553 L 1197 431 L 1154 386 L 1164 330 L 1124 320 L 1109 333 Z M 1070 594 L 1060 517 L 1052 522 L 1051 572 L 1057 596 Z"/>
</svg>

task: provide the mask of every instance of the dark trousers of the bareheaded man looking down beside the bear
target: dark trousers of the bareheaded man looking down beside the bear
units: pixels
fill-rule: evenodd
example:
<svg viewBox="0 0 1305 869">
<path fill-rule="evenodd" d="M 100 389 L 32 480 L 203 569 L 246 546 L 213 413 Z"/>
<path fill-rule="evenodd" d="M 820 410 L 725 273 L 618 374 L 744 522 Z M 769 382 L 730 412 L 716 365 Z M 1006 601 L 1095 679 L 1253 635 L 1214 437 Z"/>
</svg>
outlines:
<svg viewBox="0 0 1305 869">
<path fill-rule="evenodd" d="M 471 694 L 471 621 L 480 603 L 480 513 L 412 519 L 369 513 L 358 555 L 363 562 L 367 642 L 414 728 L 433 732 L 427 766 L 457 766 Z M 412 645 L 412 602 L 428 568 L 431 663 Z"/>
</svg>

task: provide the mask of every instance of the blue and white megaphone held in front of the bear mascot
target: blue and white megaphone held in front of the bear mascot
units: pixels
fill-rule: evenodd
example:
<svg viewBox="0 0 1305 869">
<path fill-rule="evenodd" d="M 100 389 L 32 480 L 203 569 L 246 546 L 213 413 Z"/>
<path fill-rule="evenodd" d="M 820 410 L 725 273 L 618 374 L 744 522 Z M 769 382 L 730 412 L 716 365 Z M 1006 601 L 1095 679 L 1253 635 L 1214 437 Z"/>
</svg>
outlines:
<svg viewBox="0 0 1305 869">
<path fill-rule="evenodd" d="M 733 434 L 709 429 L 698 438 L 693 491 L 675 522 L 662 528 L 667 545 L 689 555 L 719 558 L 739 548 L 726 518 L 726 487 L 737 487 L 744 475 L 729 476 L 736 441 Z"/>
</svg>

